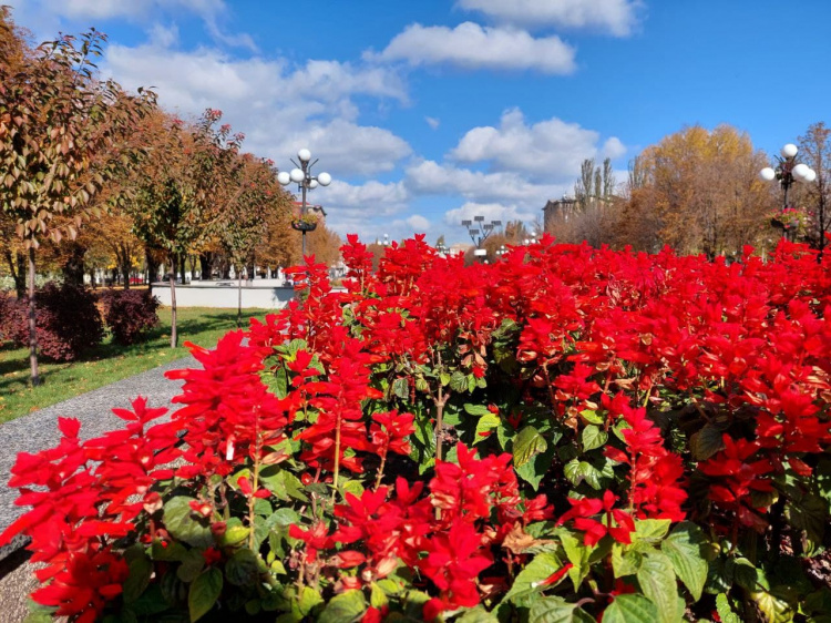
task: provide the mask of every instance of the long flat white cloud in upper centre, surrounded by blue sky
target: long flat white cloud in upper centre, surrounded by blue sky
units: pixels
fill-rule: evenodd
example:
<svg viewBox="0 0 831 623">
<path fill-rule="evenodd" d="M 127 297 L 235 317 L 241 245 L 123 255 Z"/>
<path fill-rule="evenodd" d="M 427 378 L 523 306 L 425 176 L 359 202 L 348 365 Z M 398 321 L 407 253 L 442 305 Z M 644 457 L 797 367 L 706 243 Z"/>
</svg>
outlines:
<svg viewBox="0 0 831 623">
<path fill-rule="evenodd" d="M 450 64 L 463 69 L 531 69 L 567 74 L 575 69 L 574 48 L 558 37 L 535 39 L 514 28 L 489 28 L 464 22 L 443 25 L 411 24 L 387 48 L 368 59 L 407 61 L 411 65 Z"/>
</svg>

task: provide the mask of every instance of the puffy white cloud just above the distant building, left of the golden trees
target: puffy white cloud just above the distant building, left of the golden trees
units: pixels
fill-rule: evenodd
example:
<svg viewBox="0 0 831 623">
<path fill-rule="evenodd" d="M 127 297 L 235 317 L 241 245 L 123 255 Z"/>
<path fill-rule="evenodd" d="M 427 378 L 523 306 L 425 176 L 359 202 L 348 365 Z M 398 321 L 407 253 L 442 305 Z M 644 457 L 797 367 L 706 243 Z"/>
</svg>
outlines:
<svg viewBox="0 0 831 623">
<path fill-rule="evenodd" d="M 463 163 L 490 162 L 495 171 L 562 182 L 575 177 L 585 159 L 616 159 L 626 153 L 618 139 L 613 136 L 598 145 L 599 139 L 598 132 L 557 118 L 529 125 L 522 111 L 511 109 L 502 114 L 499 127 L 470 130 L 449 156 Z"/>
</svg>

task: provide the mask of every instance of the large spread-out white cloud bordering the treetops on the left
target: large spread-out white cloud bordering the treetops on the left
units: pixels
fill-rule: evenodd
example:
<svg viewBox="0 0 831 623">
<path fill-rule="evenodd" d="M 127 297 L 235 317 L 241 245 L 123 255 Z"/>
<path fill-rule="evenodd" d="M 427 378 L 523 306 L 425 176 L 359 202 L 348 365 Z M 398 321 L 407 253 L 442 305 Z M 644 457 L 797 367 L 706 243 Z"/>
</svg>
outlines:
<svg viewBox="0 0 831 623">
<path fill-rule="evenodd" d="M 280 167 L 290 166 L 288 159 L 300 147 L 321 159 L 318 171 L 336 177 L 389 171 L 411 153 L 389 130 L 357 123 L 355 95 L 407 101 L 403 81 L 390 68 L 315 60 L 295 68 L 215 49 L 182 51 L 173 42 L 171 31 L 157 29 L 152 43 L 111 44 L 103 72 L 126 88 L 156 86 L 161 103 L 181 114 L 222 110 L 224 121 L 246 133 L 246 151 Z"/>
</svg>

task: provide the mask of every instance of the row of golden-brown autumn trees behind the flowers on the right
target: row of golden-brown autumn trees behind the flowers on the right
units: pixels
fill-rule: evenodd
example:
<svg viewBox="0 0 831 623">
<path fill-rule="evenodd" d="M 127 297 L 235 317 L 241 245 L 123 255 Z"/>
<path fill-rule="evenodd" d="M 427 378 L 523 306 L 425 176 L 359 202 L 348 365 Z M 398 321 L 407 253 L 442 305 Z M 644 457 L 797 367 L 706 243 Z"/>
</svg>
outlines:
<svg viewBox="0 0 831 623">
<path fill-rule="evenodd" d="M 819 249 L 829 231 L 830 132 L 815 123 L 799 137 L 799 160 L 817 172 L 817 181 L 797 184 L 789 194 L 789 204 L 802 215 L 798 237 Z M 779 237 L 771 216 L 782 206 L 778 184 L 759 178 L 768 164 L 750 137 L 730 125 L 712 131 L 685 127 L 644 150 L 616 194 L 608 192 L 614 187 L 608 164 L 602 170 L 586 161 L 575 186 L 574 213 L 548 228 L 563 242 L 585 239 L 594 246 L 630 245 L 638 251 L 670 245 L 679 253 L 709 257 L 739 254 L 746 244 L 766 248 Z"/>
</svg>

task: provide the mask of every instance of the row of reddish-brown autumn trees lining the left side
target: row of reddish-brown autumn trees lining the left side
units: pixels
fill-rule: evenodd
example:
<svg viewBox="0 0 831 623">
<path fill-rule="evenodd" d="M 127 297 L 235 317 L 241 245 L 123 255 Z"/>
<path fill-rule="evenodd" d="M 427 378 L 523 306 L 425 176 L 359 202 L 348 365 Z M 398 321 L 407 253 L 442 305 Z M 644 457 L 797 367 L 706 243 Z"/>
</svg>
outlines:
<svg viewBox="0 0 831 623">
<path fill-rule="evenodd" d="M 94 59 L 104 41 L 93 30 L 32 48 L 9 8 L 0 9 L 0 252 L 19 295 L 25 270 L 35 385 L 39 253 L 75 282 L 89 264 L 109 262 L 125 286 L 142 255 L 151 275 L 164 262 L 173 347 L 174 282 L 185 257 L 201 256 L 209 273 L 222 256 L 238 274 L 244 266 L 252 274 L 255 262 L 300 259 L 294 198 L 274 163 L 243 153 L 244 136 L 220 124 L 217 110 L 183 121 L 152 91 L 102 80 Z M 340 242 L 325 226 L 311 241 L 320 261 L 337 258 Z"/>
</svg>

